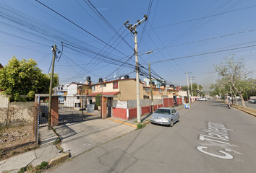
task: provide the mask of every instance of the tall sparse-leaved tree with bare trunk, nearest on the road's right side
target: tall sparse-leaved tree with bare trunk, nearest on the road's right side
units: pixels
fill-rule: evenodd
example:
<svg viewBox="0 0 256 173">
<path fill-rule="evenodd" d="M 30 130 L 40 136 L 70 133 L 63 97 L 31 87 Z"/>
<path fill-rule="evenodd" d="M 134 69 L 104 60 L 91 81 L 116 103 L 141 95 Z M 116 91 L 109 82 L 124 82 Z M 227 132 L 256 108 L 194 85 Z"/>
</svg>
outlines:
<svg viewBox="0 0 256 173">
<path fill-rule="evenodd" d="M 230 85 L 230 89 L 226 92 L 231 91 L 234 96 L 239 94 L 242 100 L 242 107 L 245 107 L 243 92 L 245 89 L 244 81 L 247 79 L 247 75 L 252 71 L 247 71 L 244 65 L 244 59 L 234 60 L 234 56 L 224 58 L 224 61 L 218 65 L 214 65 L 215 71 L 222 77 L 226 84 Z M 236 99 L 236 97 L 234 97 Z"/>
</svg>

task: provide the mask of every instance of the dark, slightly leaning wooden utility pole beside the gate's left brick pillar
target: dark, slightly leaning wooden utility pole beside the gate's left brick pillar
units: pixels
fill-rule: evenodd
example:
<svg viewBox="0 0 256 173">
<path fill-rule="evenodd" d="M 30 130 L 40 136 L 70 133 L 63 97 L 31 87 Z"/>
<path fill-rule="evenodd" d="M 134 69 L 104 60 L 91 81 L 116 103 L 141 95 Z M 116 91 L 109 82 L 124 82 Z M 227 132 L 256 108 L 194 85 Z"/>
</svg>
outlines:
<svg viewBox="0 0 256 173">
<path fill-rule="evenodd" d="M 53 77 L 54 77 L 54 62 L 56 56 L 56 45 L 51 49 L 54 52 L 53 62 L 51 63 L 51 81 L 50 81 L 50 89 L 49 89 L 49 109 L 48 109 L 48 130 L 51 130 L 51 95 L 52 95 L 52 85 L 53 85 Z"/>
</svg>

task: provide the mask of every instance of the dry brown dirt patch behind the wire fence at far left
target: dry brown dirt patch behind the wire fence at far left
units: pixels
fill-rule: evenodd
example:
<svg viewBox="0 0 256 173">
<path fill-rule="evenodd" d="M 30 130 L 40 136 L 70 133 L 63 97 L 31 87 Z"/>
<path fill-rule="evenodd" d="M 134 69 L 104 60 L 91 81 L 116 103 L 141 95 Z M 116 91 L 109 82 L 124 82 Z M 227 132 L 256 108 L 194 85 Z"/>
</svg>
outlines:
<svg viewBox="0 0 256 173">
<path fill-rule="evenodd" d="M 38 148 L 33 131 L 26 126 L 0 128 L 0 161 Z"/>
</svg>

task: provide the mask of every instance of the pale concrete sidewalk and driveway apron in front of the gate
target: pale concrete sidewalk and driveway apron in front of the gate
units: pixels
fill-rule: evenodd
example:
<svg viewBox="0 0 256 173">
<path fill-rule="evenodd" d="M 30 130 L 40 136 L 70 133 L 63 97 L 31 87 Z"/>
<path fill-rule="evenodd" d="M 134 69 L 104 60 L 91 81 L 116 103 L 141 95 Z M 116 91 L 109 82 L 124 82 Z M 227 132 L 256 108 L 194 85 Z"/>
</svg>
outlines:
<svg viewBox="0 0 256 173">
<path fill-rule="evenodd" d="M 184 105 L 180 105 L 175 108 L 180 110 L 183 107 Z M 95 113 L 97 114 L 97 112 Z M 150 115 L 141 117 L 142 125 L 150 123 Z M 47 126 L 41 127 L 39 128 L 40 148 L 0 161 L 0 172 L 18 172 L 20 168 L 27 167 L 28 164 L 35 167 L 43 161 L 48 161 L 48 164 L 54 165 L 64 161 L 69 156 L 78 156 L 107 141 L 119 138 L 119 136 L 135 130 L 137 124 L 137 118 L 123 120 L 111 117 L 105 120 L 95 119 L 58 125 L 54 128 L 61 138 L 61 147 L 67 154 L 53 144 L 58 138 L 54 131 L 48 130 Z"/>
</svg>

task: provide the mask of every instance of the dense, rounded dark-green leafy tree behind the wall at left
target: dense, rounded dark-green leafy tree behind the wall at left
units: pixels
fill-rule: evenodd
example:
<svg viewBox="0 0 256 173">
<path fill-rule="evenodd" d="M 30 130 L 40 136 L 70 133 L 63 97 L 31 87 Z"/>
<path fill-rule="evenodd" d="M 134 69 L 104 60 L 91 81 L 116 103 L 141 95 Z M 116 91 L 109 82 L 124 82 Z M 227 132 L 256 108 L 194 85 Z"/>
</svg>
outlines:
<svg viewBox="0 0 256 173">
<path fill-rule="evenodd" d="M 27 101 L 22 95 L 27 95 L 28 100 L 33 99 L 35 94 L 49 92 L 50 75 L 43 74 L 38 64 L 32 58 L 19 61 L 13 56 L 9 63 L 0 69 L 1 94 L 10 94 L 10 101 Z M 59 84 L 58 74 L 54 74 L 53 87 Z"/>
</svg>

